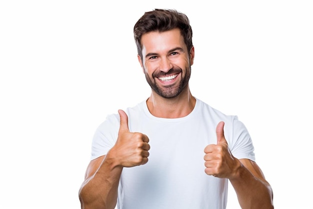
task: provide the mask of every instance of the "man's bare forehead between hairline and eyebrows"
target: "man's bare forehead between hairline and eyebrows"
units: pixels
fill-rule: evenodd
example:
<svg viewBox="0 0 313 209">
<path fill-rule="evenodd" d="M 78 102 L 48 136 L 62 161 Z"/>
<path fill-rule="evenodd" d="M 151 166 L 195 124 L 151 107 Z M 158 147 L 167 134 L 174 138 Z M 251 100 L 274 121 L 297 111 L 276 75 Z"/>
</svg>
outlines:
<svg viewBox="0 0 313 209">
<path fill-rule="evenodd" d="M 176 47 L 186 47 L 179 29 L 172 29 L 165 32 L 153 31 L 143 34 L 141 45 L 143 54 L 168 51 Z"/>
</svg>

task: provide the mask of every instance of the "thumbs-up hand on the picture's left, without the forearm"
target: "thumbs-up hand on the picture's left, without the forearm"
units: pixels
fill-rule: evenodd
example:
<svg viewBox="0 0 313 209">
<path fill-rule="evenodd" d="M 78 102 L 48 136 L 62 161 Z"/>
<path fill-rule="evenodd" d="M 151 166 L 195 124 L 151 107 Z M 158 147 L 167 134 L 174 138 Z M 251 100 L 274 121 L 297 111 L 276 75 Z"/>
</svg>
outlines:
<svg viewBox="0 0 313 209">
<path fill-rule="evenodd" d="M 118 110 L 120 125 L 115 145 L 111 148 L 118 165 L 133 167 L 143 165 L 148 161 L 150 145 L 149 138 L 142 133 L 129 132 L 128 117 L 123 110 Z"/>
</svg>

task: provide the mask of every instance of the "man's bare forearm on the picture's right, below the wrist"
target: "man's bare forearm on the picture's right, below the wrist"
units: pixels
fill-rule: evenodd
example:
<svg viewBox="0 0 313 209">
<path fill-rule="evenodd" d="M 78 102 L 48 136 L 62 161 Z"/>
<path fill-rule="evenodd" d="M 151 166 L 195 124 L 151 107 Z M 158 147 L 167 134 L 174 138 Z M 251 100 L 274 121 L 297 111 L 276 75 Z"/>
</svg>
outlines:
<svg viewBox="0 0 313 209">
<path fill-rule="evenodd" d="M 229 180 L 237 194 L 241 208 L 273 208 L 270 185 L 264 179 L 255 177 L 243 165 L 238 169 L 238 175 Z"/>
</svg>

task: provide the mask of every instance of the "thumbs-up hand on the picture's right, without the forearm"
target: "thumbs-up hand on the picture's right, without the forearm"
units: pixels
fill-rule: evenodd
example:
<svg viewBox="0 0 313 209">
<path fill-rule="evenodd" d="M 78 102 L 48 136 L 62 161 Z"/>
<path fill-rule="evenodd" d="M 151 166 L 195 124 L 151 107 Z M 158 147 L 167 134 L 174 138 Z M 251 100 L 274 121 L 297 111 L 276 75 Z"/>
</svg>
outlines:
<svg viewBox="0 0 313 209">
<path fill-rule="evenodd" d="M 216 126 L 216 144 L 209 144 L 204 149 L 205 173 L 219 178 L 231 178 L 240 162 L 230 153 L 224 136 L 224 122 Z M 238 164 L 239 163 L 239 164 Z"/>
</svg>

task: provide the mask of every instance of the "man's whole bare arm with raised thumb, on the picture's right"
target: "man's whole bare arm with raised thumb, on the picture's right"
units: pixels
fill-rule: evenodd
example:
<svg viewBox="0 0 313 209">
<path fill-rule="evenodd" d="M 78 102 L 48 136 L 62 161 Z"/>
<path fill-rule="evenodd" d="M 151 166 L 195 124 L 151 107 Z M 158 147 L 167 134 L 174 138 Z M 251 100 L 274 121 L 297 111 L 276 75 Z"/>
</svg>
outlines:
<svg viewBox="0 0 313 209">
<path fill-rule="evenodd" d="M 243 209 L 273 208 L 273 194 L 258 165 L 249 159 L 232 156 L 224 137 L 223 122 L 216 127 L 217 144 L 204 149 L 205 173 L 228 178 Z"/>
</svg>

